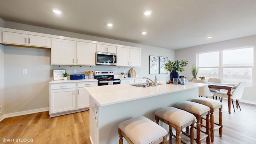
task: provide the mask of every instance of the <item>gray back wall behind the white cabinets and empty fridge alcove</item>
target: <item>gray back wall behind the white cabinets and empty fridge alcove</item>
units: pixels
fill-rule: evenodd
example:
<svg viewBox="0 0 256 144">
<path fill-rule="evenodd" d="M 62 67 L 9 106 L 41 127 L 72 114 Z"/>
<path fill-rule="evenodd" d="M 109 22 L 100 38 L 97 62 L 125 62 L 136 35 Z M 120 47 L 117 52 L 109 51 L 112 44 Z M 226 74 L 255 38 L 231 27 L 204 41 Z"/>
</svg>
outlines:
<svg viewBox="0 0 256 144">
<path fill-rule="evenodd" d="M 148 77 L 153 80 L 155 75 L 149 74 L 149 55 L 166 56 L 170 60 L 174 60 L 174 50 L 166 48 L 145 46 L 13 22 L 4 22 L 4 27 L 142 48 L 141 67 L 134 68 L 134 70 L 136 70 L 138 76 Z M 114 70 L 115 75 L 120 74 L 124 70 L 124 67 L 116 66 L 53 66 L 50 65 L 50 50 L 12 46 L 2 47 L 4 47 L 2 49 L 4 50 L 3 73 L 5 74 L 5 95 L 3 97 L 5 98 L 5 114 L 48 108 L 48 83 L 52 80 L 53 69 L 66 69 L 69 74 L 73 74 L 74 69 L 77 70 L 77 74 L 86 74 L 88 70 Z M 22 74 L 22 69 L 27 69 L 27 74 Z M 126 67 L 126 72 L 129 69 L 129 67 Z M 168 75 L 156 74 L 158 80 L 165 80 Z"/>
</svg>

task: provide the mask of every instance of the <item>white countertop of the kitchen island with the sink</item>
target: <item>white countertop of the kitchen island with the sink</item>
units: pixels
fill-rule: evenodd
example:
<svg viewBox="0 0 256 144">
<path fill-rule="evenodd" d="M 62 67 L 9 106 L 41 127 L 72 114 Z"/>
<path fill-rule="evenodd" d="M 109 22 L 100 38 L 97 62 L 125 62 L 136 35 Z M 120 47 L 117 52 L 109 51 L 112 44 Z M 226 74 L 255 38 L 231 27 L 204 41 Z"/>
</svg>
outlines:
<svg viewBox="0 0 256 144">
<path fill-rule="evenodd" d="M 178 92 L 205 85 L 208 84 L 186 82 L 185 85 L 174 85 L 164 83 L 161 86 L 151 86 L 142 88 L 131 86 L 130 84 L 116 84 L 108 86 L 85 87 L 85 89 L 87 90 L 87 92 L 89 92 L 91 98 L 94 99 L 96 104 L 98 104 L 99 106 L 106 106 L 110 104 L 116 104 L 120 102 L 146 98 L 150 96 Z"/>
</svg>

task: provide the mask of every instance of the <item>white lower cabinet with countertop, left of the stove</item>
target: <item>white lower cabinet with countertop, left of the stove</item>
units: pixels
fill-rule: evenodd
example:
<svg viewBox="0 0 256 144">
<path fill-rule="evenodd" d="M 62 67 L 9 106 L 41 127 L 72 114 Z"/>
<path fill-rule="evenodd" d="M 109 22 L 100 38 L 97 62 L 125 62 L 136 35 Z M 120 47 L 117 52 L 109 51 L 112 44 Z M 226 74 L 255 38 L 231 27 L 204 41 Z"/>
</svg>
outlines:
<svg viewBox="0 0 256 144">
<path fill-rule="evenodd" d="M 50 83 L 50 117 L 88 110 L 87 86 L 98 86 L 98 81 Z"/>
</svg>

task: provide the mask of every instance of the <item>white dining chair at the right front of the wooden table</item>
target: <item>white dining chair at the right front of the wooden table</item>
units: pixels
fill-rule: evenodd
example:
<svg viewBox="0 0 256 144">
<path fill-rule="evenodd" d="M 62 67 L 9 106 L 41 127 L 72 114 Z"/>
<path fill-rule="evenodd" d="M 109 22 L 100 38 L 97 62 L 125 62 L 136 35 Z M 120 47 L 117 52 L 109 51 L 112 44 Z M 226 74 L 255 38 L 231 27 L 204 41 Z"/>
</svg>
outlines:
<svg viewBox="0 0 256 144">
<path fill-rule="evenodd" d="M 240 83 L 236 86 L 236 89 L 233 90 L 232 96 L 230 97 L 230 98 L 231 98 L 231 101 L 232 101 L 232 105 L 233 105 L 233 108 L 234 108 L 234 112 L 235 112 L 235 113 L 236 113 L 236 111 L 235 111 L 235 107 L 234 107 L 233 100 L 236 100 L 236 108 L 239 107 L 239 109 L 241 110 L 238 100 L 240 100 L 240 99 L 242 98 L 242 96 L 243 96 L 245 84 L 246 84 L 246 82 L 240 82 Z M 221 97 L 220 102 L 222 102 L 222 98 L 228 98 L 227 92 L 222 92 L 222 91 L 220 91 L 220 92 L 215 92 L 215 93 L 214 93 L 214 96 L 219 96 L 219 97 Z"/>
</svg>

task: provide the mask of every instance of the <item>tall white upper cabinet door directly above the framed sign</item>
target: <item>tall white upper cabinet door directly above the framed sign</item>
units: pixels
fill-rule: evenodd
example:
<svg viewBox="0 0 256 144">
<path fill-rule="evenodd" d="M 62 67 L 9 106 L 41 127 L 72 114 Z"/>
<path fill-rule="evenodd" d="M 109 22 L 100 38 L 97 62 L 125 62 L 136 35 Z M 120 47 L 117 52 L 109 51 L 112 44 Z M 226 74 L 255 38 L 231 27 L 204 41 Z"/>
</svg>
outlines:
<svg viewBox="0 0 256 144">
<path fill-rule="evenodd" d="M 73 65 L 75 59 L 75 41 L 52 39 L 52 64 Z"/>
</svg>

